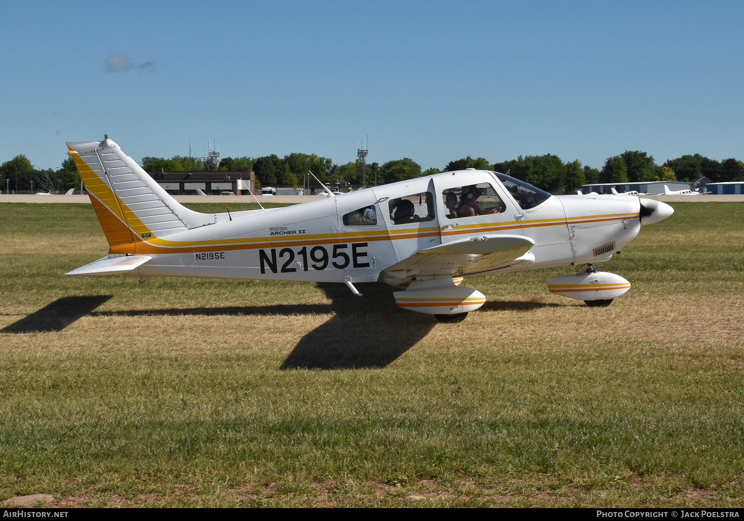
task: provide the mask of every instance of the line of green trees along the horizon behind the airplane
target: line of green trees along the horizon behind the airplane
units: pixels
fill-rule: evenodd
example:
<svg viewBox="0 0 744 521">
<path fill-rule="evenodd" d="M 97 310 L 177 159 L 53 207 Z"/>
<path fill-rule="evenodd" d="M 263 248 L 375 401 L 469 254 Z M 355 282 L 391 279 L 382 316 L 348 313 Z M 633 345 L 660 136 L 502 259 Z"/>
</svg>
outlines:
<svg viewBox="0 0 744 521">
<path fill-rule="evenodd" d="M 173 158 L 144 157 L 141 164 L 150 173 L 195 172 L 200 170 L 248 171 L 256 174 L 259 186 L 281 185 L 297 187 L 304 175 L 310 171 L 325 184 L 358 185 L 360 183 L 359 161 L 336 164 L 330 158 L 317 154 L 292 152 L 280 158 L 276 154 L 257 158 L 242 156 L 222 158 L 219 163 L 202 163 L 194 158 L 175 155 Z M 557 155 L 520 155 L 510 161 L 491 163 L 486 158 L 460 158 L 449 161 L 442 168 L 423 170 L 411 158 L 396 159 L 382 165 L 373 162 L 366 165 L 367 184 L 387 184 L 405 179 L 449 172 L 466 168 L 496 170 L 527 181 L 548 192 L 572 193 L 583 184 L 635 183 L 641 181 L 693 181 L 705 176 L 713 182 L 744 181 L 744 162 L 736 158 L 716 161 L 700 154 L 682 155 L 656 164 L 652 155 L 640 150 L 626 150 L 620 155 L 607 158 L 602 169 L 582 165 L 579 160 L 562 161 Z M 61 191 L 80 187 L 74 161 L 67 158 L 60 168 L 36 169 L 25 155 L 16 155 L 0 165 L 2 190 Z"/>
</svg>

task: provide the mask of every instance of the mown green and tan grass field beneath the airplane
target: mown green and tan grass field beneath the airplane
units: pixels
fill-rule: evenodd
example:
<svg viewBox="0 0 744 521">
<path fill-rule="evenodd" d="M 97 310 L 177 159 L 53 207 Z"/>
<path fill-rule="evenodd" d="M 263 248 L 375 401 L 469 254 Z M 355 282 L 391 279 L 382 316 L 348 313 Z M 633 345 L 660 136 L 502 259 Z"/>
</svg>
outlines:
<svg viewBox="0 0 744 521">
<path fill-rule="evenodd" d="M 382 285 L 63 276 L 92 208 L 0 204 L 0 500 L 741 506 L 744 204 L 673 206 L 609 308 L 554 268 L 438 324 Z"/>
</svg>

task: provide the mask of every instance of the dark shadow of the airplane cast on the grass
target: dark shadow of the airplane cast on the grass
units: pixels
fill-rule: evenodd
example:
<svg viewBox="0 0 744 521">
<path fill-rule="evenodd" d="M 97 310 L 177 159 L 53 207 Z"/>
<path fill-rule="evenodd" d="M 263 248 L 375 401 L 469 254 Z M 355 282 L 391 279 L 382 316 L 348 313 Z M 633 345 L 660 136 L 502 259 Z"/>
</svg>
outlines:
<svg viewBox="0 0 744 521">
<path fill-rule="evenodd" d="M 76 320 L 92 317 L 138 317 L 172 315 L 303 315 L 333 317 L 302 337 L 280 369 L 353 369 L 385 367 L 426 337 L 436 324 L 433 317 L 408 313 L 391 298 L 391 288 L 360 284 L 364 297 L 354 296 L 345 285 L 318 283 L 330 304 L 230 306 L 222 308 L 169 308 L 126 311 L 94 311 L 112 295 L 63 297 L 34 311 L 4 333 L 62 331 Z M 560 307 L 544 302 L 487 302 L 484 311 L 532 311 Z"/>
</svg>

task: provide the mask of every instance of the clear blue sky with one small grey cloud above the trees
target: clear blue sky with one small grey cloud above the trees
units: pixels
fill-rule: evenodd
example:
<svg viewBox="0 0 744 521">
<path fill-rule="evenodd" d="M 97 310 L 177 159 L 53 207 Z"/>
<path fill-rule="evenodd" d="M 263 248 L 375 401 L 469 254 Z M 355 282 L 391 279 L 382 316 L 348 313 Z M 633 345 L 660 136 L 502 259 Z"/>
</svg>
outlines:
<svg viewBox="0 0 744 521">
<path fill-rule="evenodd" d="M 3 4 L 0 162 L 744 159 L 741 1 Z"/>
</svg>

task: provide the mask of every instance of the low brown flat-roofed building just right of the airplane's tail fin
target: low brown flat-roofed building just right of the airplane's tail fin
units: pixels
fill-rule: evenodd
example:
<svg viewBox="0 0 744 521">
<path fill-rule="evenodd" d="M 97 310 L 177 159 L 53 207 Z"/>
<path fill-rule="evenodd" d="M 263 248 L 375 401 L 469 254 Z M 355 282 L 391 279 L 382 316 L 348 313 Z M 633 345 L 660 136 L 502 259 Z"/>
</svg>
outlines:
<svg viewBox="0 0 744 521">
<path fill-rule="evenodd" d="M 232 193 L 248 195 L 255 193 L 255 174 L 253 170 L 244 172 L 147 172 L 170 195 L 206 195 Z"/>
</svg>

